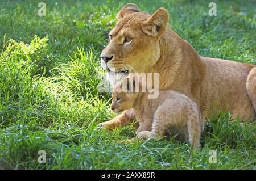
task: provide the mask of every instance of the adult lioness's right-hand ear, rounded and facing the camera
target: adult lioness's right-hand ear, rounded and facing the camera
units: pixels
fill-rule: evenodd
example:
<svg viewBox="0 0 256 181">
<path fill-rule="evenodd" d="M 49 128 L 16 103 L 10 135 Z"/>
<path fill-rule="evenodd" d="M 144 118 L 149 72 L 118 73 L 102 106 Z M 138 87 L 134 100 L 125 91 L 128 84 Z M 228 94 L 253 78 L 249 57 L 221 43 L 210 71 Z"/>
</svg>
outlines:
<svg viewBox="0 0 256 181">
<path fill-rule="evenodd" d="M 167 27 L 168 20 L 168 12 L 160 8 L 144 22 L 142 30 L 148 35 L 161 36 Z"/>
</svg>

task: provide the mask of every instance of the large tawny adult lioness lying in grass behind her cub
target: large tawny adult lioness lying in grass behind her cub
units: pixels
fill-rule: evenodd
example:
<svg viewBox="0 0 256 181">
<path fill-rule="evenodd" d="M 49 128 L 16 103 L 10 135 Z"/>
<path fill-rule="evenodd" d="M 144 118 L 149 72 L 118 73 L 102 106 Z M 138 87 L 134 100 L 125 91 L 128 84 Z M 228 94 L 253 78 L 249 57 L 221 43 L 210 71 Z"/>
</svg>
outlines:
<svg viewBox="0 0 256 181">
<path fill-rule="evenodd" d="M 241 121 L 255 120 L 256 65 L 201 57 L 167 24 L 163 8 L 150 15 L 134 4 L 122 7 L 101 53 L 102 68 L 117 74 L 159 73 L 159 89 L 186 95 L 200 108 L 204 121 L 220 110 Z M 134 110 L 128 110 L 102 126 L 121 127 L 133 119 Z"/>
</svg>

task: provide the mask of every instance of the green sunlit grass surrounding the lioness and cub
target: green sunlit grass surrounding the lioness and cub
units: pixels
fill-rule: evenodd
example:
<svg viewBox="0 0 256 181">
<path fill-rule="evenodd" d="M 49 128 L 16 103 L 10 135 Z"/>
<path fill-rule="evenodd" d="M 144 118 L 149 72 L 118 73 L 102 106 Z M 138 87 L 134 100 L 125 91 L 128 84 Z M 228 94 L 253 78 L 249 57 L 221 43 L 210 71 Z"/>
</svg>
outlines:
<svg viewBox="0 0 256 181">
<path fill-rule="evenodd" d="M 128 1 L 44 2 L 40 17 L 37 1 L 0 1 L 0 169 L 256 169 L 255 124 L 229 121 L 228 113 L 210 120 L 196 152 L 173 140 L 123 144 L 135 136 L 131 125 L 96 129 L 114 117 L 110 95 L 97 91 L 98 57 Z M 170 27 L 202 56 L 256 64 L 255 2 L 214 1 L 216 17 L 209 2 L 137 5 L 150 13 L 165 7 Z"/>
</svg>

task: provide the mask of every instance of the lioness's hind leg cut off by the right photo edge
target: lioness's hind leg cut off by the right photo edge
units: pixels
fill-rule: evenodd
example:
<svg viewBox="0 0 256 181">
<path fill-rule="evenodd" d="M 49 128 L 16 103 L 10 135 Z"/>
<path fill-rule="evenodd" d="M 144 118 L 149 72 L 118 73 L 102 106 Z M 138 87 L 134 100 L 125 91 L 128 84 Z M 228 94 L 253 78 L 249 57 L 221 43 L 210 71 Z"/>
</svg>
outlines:
<svg viewBox="0 0 256 181">
<path fill-rule="evenodd" d="M 252 69 L 247 77 L 246 89 L 256 112 L 256 68 Z"/>
</svg>

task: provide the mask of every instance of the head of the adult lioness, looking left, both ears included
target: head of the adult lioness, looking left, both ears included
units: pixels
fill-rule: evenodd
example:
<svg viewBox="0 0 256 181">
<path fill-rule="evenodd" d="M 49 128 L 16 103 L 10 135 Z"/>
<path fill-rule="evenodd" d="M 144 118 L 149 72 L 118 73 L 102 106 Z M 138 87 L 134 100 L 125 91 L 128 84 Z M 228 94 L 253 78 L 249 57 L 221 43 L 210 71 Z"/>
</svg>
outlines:
<svg viewBox="0 0 256 181">
<path fill-rule="evenodd" d="M 117 14 L 117 25 L 109 33 L 109 44 L 101 53 L 101 66 L 115 73 L 146 72 L 160 57 L 159 39 L 166 30 L 168 12 L 140 12 L 134 4 Z"/>
</svg>

